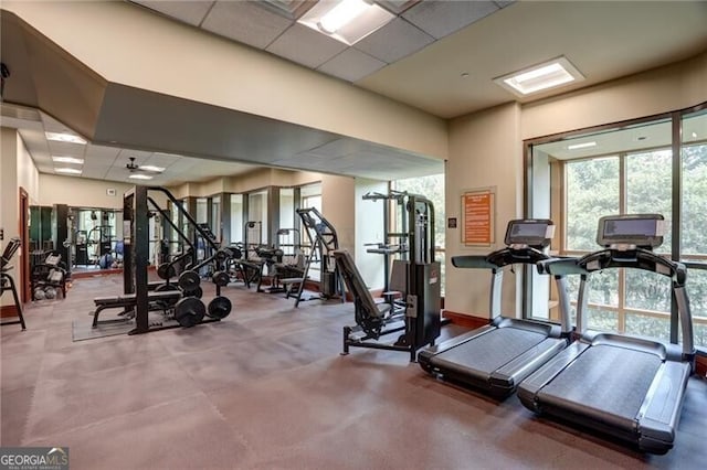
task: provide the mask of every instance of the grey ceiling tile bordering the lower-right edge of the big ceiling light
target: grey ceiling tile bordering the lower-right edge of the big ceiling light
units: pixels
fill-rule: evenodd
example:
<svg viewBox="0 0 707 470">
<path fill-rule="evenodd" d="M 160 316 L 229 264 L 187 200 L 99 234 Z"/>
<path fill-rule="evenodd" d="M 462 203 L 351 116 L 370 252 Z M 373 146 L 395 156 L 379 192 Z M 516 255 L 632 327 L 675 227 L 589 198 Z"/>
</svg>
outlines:
<svg viewBox="0 0 707 470">
<path fill-rule="evenodd" d="M 390 64 L 432 42 L 434 38 L 430 34 L 397 18 L 357 42 L 354 47 Z"/>
</svg>

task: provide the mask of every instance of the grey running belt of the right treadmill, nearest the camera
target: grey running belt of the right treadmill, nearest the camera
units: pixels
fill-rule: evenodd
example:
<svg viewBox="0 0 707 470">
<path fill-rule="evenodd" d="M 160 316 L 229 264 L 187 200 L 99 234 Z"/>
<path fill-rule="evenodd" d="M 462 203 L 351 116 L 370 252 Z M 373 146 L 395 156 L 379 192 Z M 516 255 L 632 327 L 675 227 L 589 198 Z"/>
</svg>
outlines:
<svg viewBox="0 0 707 470">
<path fill-rule="evenodd" d="M 605 344 L 591 346 L 538 396 L 548 400 L 555 396 L 633 420 L 661 364 L 655 354 Z"/>
</svg>

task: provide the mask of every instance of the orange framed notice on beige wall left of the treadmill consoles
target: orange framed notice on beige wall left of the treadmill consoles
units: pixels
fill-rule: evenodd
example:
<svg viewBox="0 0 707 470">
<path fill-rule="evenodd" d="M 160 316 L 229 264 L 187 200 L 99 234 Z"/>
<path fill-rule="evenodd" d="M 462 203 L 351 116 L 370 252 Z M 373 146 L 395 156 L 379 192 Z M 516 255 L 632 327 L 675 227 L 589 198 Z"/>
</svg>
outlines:
<svg viewBox="0 0 707 470">
<path fill-rule="evenodd" d="M 494 243 L 494 193 L 468 191 L 462 195 L 462 243 L 490 246 Z"/>
</svg>

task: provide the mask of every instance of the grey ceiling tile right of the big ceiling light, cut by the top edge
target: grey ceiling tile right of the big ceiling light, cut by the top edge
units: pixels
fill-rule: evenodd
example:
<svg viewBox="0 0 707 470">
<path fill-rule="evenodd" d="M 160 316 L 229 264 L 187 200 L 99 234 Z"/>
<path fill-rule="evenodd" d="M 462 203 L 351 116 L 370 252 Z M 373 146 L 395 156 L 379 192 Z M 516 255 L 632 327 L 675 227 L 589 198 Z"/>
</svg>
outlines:
<svg viewBox="0 0 707 470">
<path fill-rule="evenodd" d="M 493 1 L 424 1 L 404 12 L 402 17 L 434 38 L 441 39 L 496 10 L 498 7 Z"/>
</svg>

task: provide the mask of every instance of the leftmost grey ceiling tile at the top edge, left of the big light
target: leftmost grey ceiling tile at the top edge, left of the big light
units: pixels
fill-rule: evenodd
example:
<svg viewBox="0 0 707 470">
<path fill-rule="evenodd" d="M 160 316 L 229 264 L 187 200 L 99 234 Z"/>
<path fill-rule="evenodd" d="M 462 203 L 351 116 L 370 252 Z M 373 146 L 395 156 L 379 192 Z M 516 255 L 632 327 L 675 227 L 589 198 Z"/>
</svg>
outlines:
<svg viewBox="0 0 707 470">
<path fill-rule="evenodd" d="M 201 28 L 265 49 L 293 22 L 246 1 L 218 1 Z"/>
</svg>

